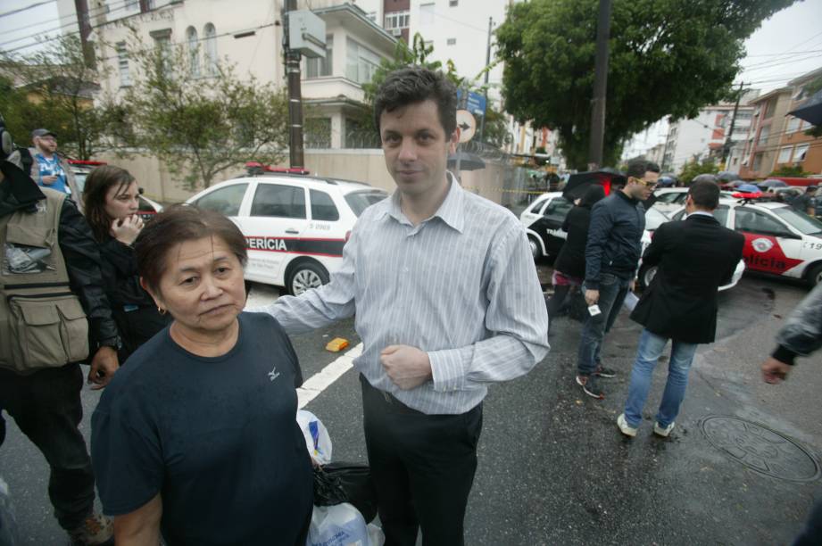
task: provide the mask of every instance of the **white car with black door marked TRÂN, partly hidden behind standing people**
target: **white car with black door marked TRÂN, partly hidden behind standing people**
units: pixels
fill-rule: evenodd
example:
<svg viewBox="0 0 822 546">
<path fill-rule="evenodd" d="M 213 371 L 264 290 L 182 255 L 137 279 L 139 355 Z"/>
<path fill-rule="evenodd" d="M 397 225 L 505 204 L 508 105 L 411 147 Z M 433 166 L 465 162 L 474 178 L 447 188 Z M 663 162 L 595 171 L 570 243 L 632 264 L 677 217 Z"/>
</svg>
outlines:
<svg viewBox="0 0 822 546">
<path fill-rule="evenodd" d="M 574 203 L 569 202 L 561 192 L 542 194 L 519 215 L 519 221 L 525 227 L 531 255 L 535 260 L 541 257 L 556 257 L 560 248 L 565 244 L 568 234 L 562 231 L 562 223 Z M 650 209 L 645 211 L 645 233 L 643 234 L 643 250 L 651 243 L 651 233 L 668 217 L 660 211 Z"/>
</svg>

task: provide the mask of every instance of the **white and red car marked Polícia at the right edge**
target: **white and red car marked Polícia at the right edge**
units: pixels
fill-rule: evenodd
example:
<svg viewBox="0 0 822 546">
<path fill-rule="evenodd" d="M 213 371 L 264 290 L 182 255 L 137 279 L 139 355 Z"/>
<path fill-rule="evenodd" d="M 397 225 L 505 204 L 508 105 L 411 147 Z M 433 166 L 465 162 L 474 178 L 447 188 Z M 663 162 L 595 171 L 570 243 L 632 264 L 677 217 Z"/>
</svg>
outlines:
<svg viewBox="0 0 822 546">
<path fill-rule="evenodd" d="M 682 219 L 678 211 L 672 219 Z M 822 221 L 785 203 L 720 199 L 719 222 L 745 236 L 743 260 L 751 271 L 822 282 Z"/>
</svg>

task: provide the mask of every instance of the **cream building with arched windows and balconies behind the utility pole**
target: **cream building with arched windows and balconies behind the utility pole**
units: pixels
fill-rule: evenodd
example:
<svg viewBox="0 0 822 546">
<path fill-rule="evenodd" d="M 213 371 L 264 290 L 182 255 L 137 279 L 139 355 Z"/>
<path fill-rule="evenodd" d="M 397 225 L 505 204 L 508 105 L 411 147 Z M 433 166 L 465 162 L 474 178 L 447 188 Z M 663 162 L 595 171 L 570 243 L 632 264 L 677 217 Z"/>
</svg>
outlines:
<svg viewBox="0 0 822 546">
<path fill-rule="evenodd" d="M 64 11 L 72 0 L 58 0 Z M 108 64 L 100 82 L 105 94 L 129 87 L 137 65 L 129 47 L 187 48 L 192 69 L 204 86 L 217 62 L 234 65 L 239 78 L 286 85 L 283 64 L 282 0 L 89 0 L 79 21 L 91 22 L 89 40 Z M 361 136 L 365 106 L 361 84 L 370 81 L 382 59 L 392 58 L 396 38 L 350 2 L 298 2 L 326 23 L 326 57 L 303 58 L 302 95 L 307 148 L 368 145 Z M 73 7 L 73 6 L 72 6 Z M 134 42 L 137 42 L 135 44 Z"/>
</svg>

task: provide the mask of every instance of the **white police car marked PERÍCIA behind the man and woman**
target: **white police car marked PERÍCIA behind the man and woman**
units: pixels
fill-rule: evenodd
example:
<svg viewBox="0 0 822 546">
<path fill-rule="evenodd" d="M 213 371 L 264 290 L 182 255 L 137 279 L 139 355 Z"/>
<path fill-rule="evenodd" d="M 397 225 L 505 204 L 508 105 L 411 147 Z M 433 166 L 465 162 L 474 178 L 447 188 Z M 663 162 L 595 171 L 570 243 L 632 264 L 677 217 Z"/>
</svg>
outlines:
<svg viewBox="0 0 822 546">
<path fill-rule="evenodd" d="M 247 280 L 285 286 L 290 294 L 328 283 L 361 212 L 388 195 L 336 178 L 249 168 L 186 203 L 218 211 L 245 236 Z"/>
</svg>

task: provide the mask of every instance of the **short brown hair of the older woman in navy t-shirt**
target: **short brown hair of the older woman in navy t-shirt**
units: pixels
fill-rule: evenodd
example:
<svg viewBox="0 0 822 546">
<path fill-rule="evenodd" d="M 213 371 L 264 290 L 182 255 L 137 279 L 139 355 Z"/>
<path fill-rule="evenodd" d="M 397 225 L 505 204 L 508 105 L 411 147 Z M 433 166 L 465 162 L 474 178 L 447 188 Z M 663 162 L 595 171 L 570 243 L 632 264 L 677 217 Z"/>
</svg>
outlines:
<svg viewBox="0 0 822 546">
<path fill-rule="evenodd" d="M 145 284 L 160 292 L 160 279 L 168 267 L 169 251 L 177 244 L 204 237 L 220 237 L 245 267 L 248 253 L 239 227 L 220 214 L 188 205 L 172 205 L 143 227 L 134 242 L 137 270 Z"/>
</svg>

